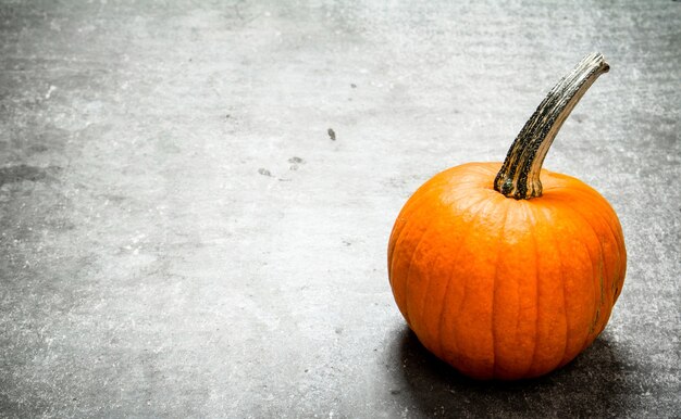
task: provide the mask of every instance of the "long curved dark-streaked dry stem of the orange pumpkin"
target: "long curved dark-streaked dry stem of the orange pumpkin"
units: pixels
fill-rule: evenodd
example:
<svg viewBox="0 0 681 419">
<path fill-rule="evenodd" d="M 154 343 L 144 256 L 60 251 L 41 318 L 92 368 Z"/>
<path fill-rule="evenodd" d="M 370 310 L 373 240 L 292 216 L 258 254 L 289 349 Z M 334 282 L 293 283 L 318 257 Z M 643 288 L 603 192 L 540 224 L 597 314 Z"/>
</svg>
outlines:
<svg viewBox="0 0 681 419">
<path fill-rule="evenodd" d="M 610 66 L 603 55 L 586 55 L 558 81 L 540 103 L 511 144 L 494 179 L 494 190 L 507 198 L 529 200 L 542 195 L 540 172 L 548 148 L 584 92 Z"/>
</svg>

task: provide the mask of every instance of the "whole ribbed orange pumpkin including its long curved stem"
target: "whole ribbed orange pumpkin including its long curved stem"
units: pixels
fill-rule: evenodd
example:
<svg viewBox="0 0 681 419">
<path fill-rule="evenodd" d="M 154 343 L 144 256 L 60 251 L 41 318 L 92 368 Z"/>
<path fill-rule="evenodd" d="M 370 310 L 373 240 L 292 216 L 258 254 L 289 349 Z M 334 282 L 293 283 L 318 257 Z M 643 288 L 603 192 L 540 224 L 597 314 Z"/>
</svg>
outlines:
<svg viewBox="0 0 681 419">
<path fill-rule="evenodd" d="M 579 179 L 542 168 L 558 129 L 608 64 L 590 54 L 542 101 L 504 163 L 439 173 L 407 201 L 388 243 L 409 328 L 475 379 L 545 374 L 603 331 L 624 280 L 622 229 Z"/>
</svg>

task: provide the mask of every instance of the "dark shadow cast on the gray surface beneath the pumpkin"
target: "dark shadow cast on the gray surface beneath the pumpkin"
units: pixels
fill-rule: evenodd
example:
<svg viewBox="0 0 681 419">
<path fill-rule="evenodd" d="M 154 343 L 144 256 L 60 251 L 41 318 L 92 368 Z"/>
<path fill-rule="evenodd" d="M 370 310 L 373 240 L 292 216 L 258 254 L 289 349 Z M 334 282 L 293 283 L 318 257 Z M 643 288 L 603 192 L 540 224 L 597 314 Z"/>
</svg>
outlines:
<svg viewBox="0 0 681 419">
<path fill-rule="evenodd" d="M 425 417 L 496 417 L 516 411 L 542 416 L 621 417 L 634 401 L 626 397 L 626 354 L 608 340 L 597 338 L 574 360 L 536 379 L 476 381 L 432 355 L 405 326 L 395 334 L 389 355 L 396 365 L 392 393 Z M 414 412 L 416 414 L 416 412 Z"/>
</svg>

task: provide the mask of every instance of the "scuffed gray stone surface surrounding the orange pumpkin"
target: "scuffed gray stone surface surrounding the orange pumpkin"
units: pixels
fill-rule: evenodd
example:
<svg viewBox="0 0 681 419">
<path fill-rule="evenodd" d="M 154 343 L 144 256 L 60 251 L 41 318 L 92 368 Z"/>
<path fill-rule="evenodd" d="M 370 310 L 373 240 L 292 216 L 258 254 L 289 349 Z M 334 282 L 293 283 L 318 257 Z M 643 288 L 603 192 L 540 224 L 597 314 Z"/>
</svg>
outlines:
<svg viewBox="0 0 681 419">
<path fill-rule="evenodd" d="M 593 50 L 546 167 L 618 212 L 623 293 L 566 368 L 470 381 L 392 224 Z M 667 0 L 1 0 L 0 416 L 681 416 L 680 68 Z"/>
</svg>

